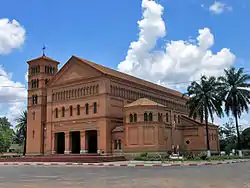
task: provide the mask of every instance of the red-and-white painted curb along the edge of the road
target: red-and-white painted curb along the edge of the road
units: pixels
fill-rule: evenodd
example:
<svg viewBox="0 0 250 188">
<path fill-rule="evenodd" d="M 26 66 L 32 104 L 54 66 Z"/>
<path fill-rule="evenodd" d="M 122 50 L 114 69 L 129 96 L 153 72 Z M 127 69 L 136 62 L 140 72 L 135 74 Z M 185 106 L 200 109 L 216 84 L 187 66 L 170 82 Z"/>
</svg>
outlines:
<svg viewBox="0 0 250 188">
<path fill-rule="evenodd" d="M 210 165 L 223 165 L 223 164 L 233 164 L 233 163 L 245 163 L 250 162 L 250 160 L 237 160 L 237 161 L 218 161 L 218 162 L 202 162 L 202 163 L 167 163 L 167 164 L 145 164 L 145 163 L 16 163 L 16 162 L 5 162 L 1 163 L 0 166 L 83 166 L 83 167 L 181 167 L 181 166 L 210 166 Z"/>
</svg>

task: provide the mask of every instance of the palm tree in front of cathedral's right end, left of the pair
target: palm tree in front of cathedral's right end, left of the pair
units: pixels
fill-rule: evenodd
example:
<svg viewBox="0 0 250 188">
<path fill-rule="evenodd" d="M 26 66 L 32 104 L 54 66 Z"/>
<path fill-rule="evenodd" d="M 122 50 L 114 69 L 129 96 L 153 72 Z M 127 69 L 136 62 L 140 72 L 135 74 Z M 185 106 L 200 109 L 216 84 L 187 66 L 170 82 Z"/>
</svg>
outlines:
<svg viewBox="0 0 250 188">
<path fill-rule="evenodd" d="M 193 81 L 187 88 L 187 93 L 184 95 L 189 96 L 187 105 L 189 107 L 189 117 L 196 119 L 200 118 L 201 123 L 205 119 L 206 136 L 207 136 L 207 156 L 210 157 L 210 144 L 208 134 L 208 119 L 214 120 L 214 113 L 218 117 L 223 116 L 222 100 L 218 95 L 220 91 L 220 84 L 215 77 L 201 76 L 200 83 Z"/>
</svg>

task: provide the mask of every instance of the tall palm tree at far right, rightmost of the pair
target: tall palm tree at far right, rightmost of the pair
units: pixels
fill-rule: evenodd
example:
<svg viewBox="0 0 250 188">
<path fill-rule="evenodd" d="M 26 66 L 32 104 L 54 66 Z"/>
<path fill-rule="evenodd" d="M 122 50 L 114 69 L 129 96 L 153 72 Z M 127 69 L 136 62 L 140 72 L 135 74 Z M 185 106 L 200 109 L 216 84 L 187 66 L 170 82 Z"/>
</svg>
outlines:
<svg viewBox="0 0 250 188">
<path fill-rule="evenodd" d="M 248 112 L 250 104 L 250 75 L 244 74 L 244 68 L 235 69 L 234 67 L 224 70 L 225 75 L 219 77 L 222 84 L 221 95 L 225 101 L 225 112 L 227 116 L 230 112 L 234 116 L 237 130 L 237 148 L 241 153 L 241 141 L 238 119 L 244 111 Z"/>
</svg>

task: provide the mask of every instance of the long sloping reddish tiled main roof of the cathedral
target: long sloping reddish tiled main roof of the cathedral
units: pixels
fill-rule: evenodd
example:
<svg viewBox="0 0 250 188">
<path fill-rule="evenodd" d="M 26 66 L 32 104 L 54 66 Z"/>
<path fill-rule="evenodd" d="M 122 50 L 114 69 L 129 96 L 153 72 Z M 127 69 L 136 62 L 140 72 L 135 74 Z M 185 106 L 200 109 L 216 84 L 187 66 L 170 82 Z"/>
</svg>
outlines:
<svg viewBox="0 0 250 188">
<path fill-rule="evenodd" d="M 146 80 L 142 80 L 140 78 L 136 78 L 134 76 L 122 73 L 122 72 L 117 71 L 117 70 L 110 69 L 108 67 L 104 67 L 102 65 L 93 63 L 91 61 L 88 61 L 88 60 L 85 60 L 85 59 L 82 59 L 82 58 L 79 58 L 79 57 L 76 57 L 76 56 L 73 56 L 73 57 L 77 58 L 78 60 L 80 60 L 80 61 L 82 61 L 84 63 L 87 63 L 89 66 L 99 70 L 100 72 L 102 72 L 104 74 L 114 76 L 114 77 L 117 77 L 117 78 L 121 78 L 121 79 L 124 79 L 124 80 L 128 80 L 128 81 L 131 81 L 133 83 L 138 83 L 138 84 L 150 87 L 152 89 L 161 90 L 163 92 L 166 92 L 166 93 L 169 93 L 169 94 L 172 94 L 172 95 L 175 95 L 175 96 L 179 96 L 179 97 L 184 97 L 184 98 L 187 99 L 186 96 L 183 96 L 183 94 L 178 92 L 178 91 L 175 91 L 175 90 L 172 90 L 172 89 L 169 89 L 169 88 L 166 88 L 166 87 L 163 87 L 163 86 L 148 82 Z"/>
</svg>

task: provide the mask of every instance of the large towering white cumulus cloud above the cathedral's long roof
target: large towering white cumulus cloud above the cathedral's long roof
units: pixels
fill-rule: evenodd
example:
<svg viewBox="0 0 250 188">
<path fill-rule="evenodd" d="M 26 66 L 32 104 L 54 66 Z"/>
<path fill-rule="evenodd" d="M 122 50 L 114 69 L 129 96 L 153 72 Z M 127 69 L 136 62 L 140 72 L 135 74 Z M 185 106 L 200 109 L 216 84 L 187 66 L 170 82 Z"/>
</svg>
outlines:
<svg viewBox="0 0 250 188">
<path fill-rule="evenodd" d="M 199 29 L 195 40 L 170 41 L 163 50 L 157 50 L 157 41 L 167 33 L 162 18 L 164 8 L 155 1 L 142 0 L 142 9 L 139 38 L 131 42 L 125 60 L 118 65 L 119 71 L 177 88 L 186 87 L 180 83 L 197 80 L 202 74 L 217 76 L 234 64 L 236 57 L 230 49 L 212 52 L 215 39 L 209 28 Z"/>
</svg>

